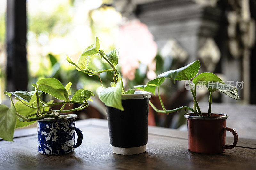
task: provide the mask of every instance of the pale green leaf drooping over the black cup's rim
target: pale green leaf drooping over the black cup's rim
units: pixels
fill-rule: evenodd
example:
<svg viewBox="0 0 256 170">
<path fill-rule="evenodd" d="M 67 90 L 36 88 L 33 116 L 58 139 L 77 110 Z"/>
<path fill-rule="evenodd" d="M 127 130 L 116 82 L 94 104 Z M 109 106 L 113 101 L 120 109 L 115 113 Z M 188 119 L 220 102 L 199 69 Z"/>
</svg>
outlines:
<svg viewBox="0 0 256 170">
<path fill-rule="evenodd" d="M 121 77 L 120 75 L 118 77 Z M 122 81 L 118 80 L 116 87 L 108 87 L 100 92 L 100 100 L 105 103 L 106 106 L 114 107 L 124 111 L 121 100 L 122 93 Z"/>
</svg>

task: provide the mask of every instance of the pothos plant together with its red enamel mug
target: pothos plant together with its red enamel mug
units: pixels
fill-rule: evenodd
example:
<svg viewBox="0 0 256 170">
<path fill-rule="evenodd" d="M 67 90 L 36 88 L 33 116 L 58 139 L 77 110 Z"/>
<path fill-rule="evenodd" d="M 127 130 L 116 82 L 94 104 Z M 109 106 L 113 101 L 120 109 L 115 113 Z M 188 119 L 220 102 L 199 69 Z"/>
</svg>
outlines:
<svg viewBox="0 0 256 170">
<path fill-rule="evenodd" d="M 157 109 L 151 102 L 150 106 L 159 113 L 172 113 L 179 110 L 189 110 L 191 113 L 185 114 L 188 121 L 188 150 L 197 153 L 214 154 L 224 152 L 226 149 L 234 148 L 238 141 L 238 135 L 232 128 L 226 127 L 226 119 L 228 115 L 224 113 L 212 113 L 212 93 L 215 91 L 223 92 L 231 98 L 239 100 L 237 89 L 235 86 L 225 84 L 218 76 L 213 73 L 201 73 L 198 71 L 200 62 L 198 60 L 181 67 L 176 70 L 170 70 L 157 76 L 156 79 L 149 81 L 146 85 L 138 85 L 135 88 L 142 91 L 149 91 L 155 95 L 157 88 L 158 97 L 162 106 Z M 197 76 L 196 76 L 197 75 Z M 182 106 L 173 110 L 166 110 L 162 102 L 159 88 L 165 79 L 171 79 L 173 83 L 176 80 L 187 81 L 188 89 L 191 91 L 194 99 L 194 107 Z M 190 81 L 193 79 L 192 81 Z M 205 86 L 209 90 L 209 108 L 208 113 L 202 113 L 196 100 L 196 87 L 198 85 Z M 234 142 L 232 146 L 225 144 L 225 131 L 230 131 L 234 135 Z"/>
</svg>

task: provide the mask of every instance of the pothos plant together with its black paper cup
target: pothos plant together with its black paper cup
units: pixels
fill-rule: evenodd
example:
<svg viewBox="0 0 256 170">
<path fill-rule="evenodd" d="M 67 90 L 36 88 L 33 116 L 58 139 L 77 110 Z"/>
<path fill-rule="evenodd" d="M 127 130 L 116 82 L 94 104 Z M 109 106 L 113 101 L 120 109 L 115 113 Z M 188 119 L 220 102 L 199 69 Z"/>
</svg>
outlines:
<svg viewBox="0 0 256 170">
<path fill-rule="evenodd" d="M 88 66 L 92 55 L 95 54 L 105 60 L 110 69 L 90 70 Z M 68 56 L 67 61 L 76 66 L 78 71 L 89 76 L 96 75 L 100 78 L 100 73 L 108 71 L 114 73 L 110 87 L 103 89 L 99 94 L 100 100 L 105 103 L 107 109 L 112 152 L 122 155 L 145 152 L 148 142 L 148 108 L 151 95 L 150 92 L 134 89 L 124 90 L 121 74 L 116 68 L 118 50 L 114 49 L 106 54 L 100 50 L 99 39 L 96 37 L 95 43 L 84 50 L 76 64 Z"/>
</svg>

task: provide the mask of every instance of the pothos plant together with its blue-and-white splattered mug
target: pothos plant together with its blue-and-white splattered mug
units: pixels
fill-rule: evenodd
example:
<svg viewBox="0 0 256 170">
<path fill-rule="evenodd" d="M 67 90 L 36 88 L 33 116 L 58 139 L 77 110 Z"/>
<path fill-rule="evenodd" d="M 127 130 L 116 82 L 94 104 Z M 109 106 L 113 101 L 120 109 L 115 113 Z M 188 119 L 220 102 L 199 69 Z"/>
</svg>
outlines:
<svg viewBox="0 0 256 170">
<path fill-rule="evenodd" d="M 38 152 L 45 155 L 62 155 L 74 151 L 74 148 L 82 143 L 82 132 L 75 127 L 77 115 L 68 112 L 82 110 L 89 106 L 87 100 L 92 100 L 94 93 L 79 89 L 69 99 L 71 82 L 65 87 L 55 78 L 44 78 L 32 84 L 35 91 L 16 91 L 4 93 L 10 97 L 11 108 L 0 105 L 0 137 L 7 141 L 13 141 L 14 129 L 25 127 L 37 121 Z M 42 93 L 48 93 L 53 97 L 63 100 L 53 103 L 54 100 L 45 102 L 40 99 Z M 15 96 L 16 102 L 12 96 Z M 80 107 L 64 110 L 66 104 L 81 104 Z M 59 110 L 51 107 L 62 105 Z M 75 131 L 78 139 L 75 144 Z"/>
</svg>

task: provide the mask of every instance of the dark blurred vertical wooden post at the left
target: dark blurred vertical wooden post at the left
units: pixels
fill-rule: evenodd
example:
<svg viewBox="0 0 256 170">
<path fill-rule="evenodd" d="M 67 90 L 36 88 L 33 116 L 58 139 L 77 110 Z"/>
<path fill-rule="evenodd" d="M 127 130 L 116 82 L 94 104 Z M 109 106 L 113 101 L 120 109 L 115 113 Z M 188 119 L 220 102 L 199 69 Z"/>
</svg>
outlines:
<svg viewBox="0 0 256 170">
<path fill-rule="evenodd" d="M 26 90 L 26 0 L 7 0 L 7 90 Z"/>
</svg>

